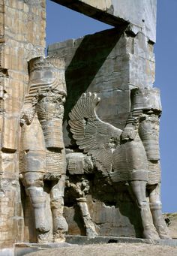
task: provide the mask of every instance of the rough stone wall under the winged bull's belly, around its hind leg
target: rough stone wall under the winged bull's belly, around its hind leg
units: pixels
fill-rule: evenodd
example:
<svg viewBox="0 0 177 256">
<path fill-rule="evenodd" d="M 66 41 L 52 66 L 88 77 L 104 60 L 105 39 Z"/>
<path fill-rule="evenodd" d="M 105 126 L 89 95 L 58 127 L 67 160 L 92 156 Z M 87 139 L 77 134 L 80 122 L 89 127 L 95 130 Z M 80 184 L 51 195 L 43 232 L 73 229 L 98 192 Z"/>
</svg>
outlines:
<svg viewBox="0 0 177 256">
<path fill-rule="evenodd" d="M 89 212 L 99 236 L 142 237 L 142 227 L 139 224 L 139 212 L 134 208 L 127 191 L 120 190 L 115 199 L 113 198 L 112 189 L 105 185 L 105 190 L 108 191 L 107 196 L 104 191 L 102 194 L 99 194 L 98 197 L 96 193 L 94 194 L 94 198 L 97 199 L 93 200 L 91 195 L 86 197 Z M 99 191 L 97 192 L 99 193 Z M 116 200 L 117 203 L 113 205 L 113 202 L 111 203 L 109 200 Z M 131 215 L 130 218 L 130 212 L 132 211 L 134 215 Z M 76 206 L 76 204 L 73 206 L 71 206 L 71 204 L 65 206 L 64 215 L 68 221 L 69 234 L 86 236 L 86 229 L 83 225 L 79 206 Z"/>
</svg>

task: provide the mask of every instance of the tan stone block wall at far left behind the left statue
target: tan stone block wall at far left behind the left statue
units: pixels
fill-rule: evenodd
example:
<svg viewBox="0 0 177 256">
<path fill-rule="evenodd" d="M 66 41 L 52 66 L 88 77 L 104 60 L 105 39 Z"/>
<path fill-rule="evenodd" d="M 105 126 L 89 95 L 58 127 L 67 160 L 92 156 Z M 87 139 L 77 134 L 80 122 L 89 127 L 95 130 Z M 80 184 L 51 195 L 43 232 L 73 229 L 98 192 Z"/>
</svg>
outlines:
<svg viewBox="0 0 177 256">
<path fill-rule="evenodd" d="M 23 241 L 18 152 L 29 59 L 43 56 L 45 0 L 0 1 L 0 245 Z"/>
</svg>

